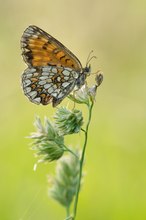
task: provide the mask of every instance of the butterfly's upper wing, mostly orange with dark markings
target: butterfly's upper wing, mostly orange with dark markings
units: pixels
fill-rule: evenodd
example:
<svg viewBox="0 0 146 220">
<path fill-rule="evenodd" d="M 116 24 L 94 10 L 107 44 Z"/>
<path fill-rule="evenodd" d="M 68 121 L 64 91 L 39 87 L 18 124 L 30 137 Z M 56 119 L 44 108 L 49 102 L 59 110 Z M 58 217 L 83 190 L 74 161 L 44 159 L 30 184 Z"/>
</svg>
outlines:
<svg viewBox="0 0 146 220">
<path fill-rule="evenodd" d="M 82 71 L 78 58 L 58 40 L 36 26 L 29 26 L 21 38 L 22 56 L 30 67 L 62 66 Z"/>
</svg>

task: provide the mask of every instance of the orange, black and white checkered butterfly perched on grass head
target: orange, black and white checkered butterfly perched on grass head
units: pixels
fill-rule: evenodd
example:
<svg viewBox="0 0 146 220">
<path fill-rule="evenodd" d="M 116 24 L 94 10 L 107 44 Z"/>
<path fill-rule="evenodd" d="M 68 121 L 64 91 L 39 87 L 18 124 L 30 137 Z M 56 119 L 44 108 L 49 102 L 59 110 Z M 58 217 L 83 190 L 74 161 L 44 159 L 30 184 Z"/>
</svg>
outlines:
<svg viewBox="0 0 146 220">
<path fill-rule="evenodd" d="M 24 94 L 35 104 L 56 107 L 90 75 L 78 58 L 39 27 L 31 25 L 21 38 L 22 56 L 28 68 L 22 74 Z"/>
</svg>

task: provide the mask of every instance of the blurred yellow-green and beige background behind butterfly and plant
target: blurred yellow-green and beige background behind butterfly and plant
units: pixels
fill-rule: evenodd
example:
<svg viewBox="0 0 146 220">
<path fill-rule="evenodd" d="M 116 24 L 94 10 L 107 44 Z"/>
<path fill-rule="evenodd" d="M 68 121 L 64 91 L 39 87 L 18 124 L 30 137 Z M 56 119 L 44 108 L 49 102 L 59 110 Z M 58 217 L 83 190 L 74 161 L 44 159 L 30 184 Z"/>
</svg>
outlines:
<svg viewBox="0 0 146 220">
<path fill-rule="evenodd" d="M 146 219 L 146 2 L 36 0 L 0 3 L 0 219 L 61 220 L 64 209 L 47 196 L 47 174 L 25 136 L 35 115 L 52 117 L 20 86 L 26 65 L 20 38 L 34 24 L 68 47 L 85 65 L 93 49 L 104 82 L 98 90 L 86 152 L 77 220 Z M 89 81 L 93 82 L 91 76 Z M 68 99 L 62 105 L 66 105 Z M 80 107 L 80 106 L 79 106 Z M 76 138 L 76 140 L 75 140 Z M 81 143 L 70 137 L 72 145 Z"/>
</svg>

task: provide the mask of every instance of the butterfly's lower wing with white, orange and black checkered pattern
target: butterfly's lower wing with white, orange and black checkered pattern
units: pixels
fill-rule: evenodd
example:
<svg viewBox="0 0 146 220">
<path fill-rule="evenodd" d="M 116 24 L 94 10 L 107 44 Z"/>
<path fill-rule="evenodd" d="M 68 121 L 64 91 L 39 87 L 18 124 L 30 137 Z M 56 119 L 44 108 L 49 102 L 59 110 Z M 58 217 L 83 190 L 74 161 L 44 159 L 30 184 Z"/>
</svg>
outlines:
<svg viewBox="0 0 146 220">
<path fill-rule="evenodd" d="M 75 87 L 78 73 L 67 67 L 27 68 L 22 75 L 24 94 L 35 104 L 57 106 Z"/>
</svg>

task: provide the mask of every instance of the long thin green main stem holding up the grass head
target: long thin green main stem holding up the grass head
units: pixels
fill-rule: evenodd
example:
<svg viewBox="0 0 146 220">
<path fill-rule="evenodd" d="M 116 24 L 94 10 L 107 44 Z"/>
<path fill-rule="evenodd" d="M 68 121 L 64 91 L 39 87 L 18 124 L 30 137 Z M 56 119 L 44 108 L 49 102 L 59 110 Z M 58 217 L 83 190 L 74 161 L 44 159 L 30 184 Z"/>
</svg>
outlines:
<svg viewBox="0 0 146 220">
<path fill-rule="evenodd" d="M 79 181 L 78 181 L 78 186 L 77 186 L 77 191 L 76 191 L 76 196 L 75 196 L 75 202 L 74 202 L 73 220 L 75 220 L 76 214 L 77 214 L 77 206 L 78 206 L 78 198 L 79 198 L 79 192 L 80 192 L 80 187 L 81 187 L 83 164 L 84 164 L 85 151 L 86 151 L 87 140 L 88 140 L 88 129 L 89 129 L 90 121 L 91 121 L 93 104 L 94 104 L 94 102 L 92 102 L 91 105 L 88 105 L 88 109 L 89 109 L 88 122 L 87 122 L 87 125 L 86 125 L 86 129 L 83 130 L 84 133 L 85 133 L 85 140 L 84 140 L 83 151 L 82 151 L 82 155 L 81 155 L 81 159 L 80 159 Z"/>
</svg>

